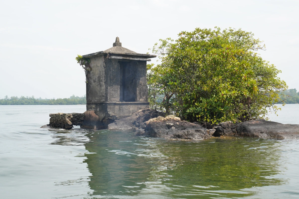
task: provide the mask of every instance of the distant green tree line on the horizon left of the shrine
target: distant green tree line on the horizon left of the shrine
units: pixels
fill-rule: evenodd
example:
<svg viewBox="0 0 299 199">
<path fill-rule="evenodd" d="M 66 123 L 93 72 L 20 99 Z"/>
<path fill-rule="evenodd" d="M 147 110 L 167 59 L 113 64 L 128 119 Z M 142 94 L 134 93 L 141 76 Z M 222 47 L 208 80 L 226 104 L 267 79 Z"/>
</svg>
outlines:
<svg viewBox="0 0 299 199">
<path fill-rule="evenodd" d="M 5 96 L 4 99 L 0 99 L 0 105 L 76 105 L 76 104 L 86 104 L 86 95 L 82 97 L 78 97 L 72 95 L 70 98 L 58 98 L 58 99 L 42 99 L 42 98 L 34 98 L 21 96 L 18 98 L 17 96 L 12 96 L 10 98 Z"/>
</svg>

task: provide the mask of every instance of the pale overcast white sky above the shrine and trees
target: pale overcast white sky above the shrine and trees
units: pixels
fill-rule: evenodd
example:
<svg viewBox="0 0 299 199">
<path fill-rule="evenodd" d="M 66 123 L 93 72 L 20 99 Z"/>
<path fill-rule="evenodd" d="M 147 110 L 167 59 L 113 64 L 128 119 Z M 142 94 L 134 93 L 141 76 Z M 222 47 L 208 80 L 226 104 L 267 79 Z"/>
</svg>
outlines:
<svg viewBox="0 0 299 199">
<path fill-rule="evenodd" d="M 1 0 L 0 98 L 83 96 L 85 73 L 77 54 L 106 50 L 117 36 L 123 47 L 151 53 L 160 38 L 215 26 L 254 33 L 266 44 L 262 58 L 299 90 L 298 10 L 298 0 Z"/>
</svg>

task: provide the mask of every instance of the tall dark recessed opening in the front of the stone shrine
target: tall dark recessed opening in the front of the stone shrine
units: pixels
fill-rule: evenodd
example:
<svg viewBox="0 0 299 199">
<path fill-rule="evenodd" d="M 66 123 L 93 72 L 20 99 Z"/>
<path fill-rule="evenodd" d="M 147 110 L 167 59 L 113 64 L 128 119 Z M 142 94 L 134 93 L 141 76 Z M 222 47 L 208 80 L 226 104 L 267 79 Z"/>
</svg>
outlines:
<svg viewBox="0 0 299 199">
<path fill-rule="evenodd" d="M 136 66 L 134 62 L 119 61 L 120 101 L 136 101 Z"/>
</svg>

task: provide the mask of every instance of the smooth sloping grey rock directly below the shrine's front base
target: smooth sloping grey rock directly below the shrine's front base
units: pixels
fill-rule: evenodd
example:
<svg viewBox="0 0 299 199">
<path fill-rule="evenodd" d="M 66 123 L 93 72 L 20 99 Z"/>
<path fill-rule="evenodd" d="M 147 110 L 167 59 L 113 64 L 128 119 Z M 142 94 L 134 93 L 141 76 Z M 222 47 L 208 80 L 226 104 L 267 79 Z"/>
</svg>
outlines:
<svg viewBox="0 0 299 199">
<path fill-rule="evenodd" d="M 158 117 L 159 112 L 153 109 L 141 109 L 132 114 L 132 116 L 115 120 L 108 124 L 109 130 L 127 130 L 127 129 L 145 129 L 145 122 Z"/>
</svg>

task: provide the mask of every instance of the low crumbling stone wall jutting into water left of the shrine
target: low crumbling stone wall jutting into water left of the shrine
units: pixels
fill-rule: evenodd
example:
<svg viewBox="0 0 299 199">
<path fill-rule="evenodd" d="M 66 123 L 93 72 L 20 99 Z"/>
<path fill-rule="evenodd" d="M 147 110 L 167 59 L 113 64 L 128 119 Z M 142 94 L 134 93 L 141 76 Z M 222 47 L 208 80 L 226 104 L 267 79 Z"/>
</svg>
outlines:
<svg viewBox="0 0 299 199">
<path fill-rule="evenodd" d="M 84 113 L 51 113 L 50 124 L 44 125 L 41 128 L 52 127 L 60 129 L 72 129 L 73 126 L 81 126 L 84 120 Z"/>
</svg>

